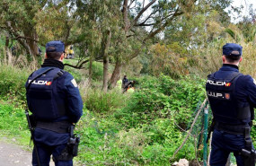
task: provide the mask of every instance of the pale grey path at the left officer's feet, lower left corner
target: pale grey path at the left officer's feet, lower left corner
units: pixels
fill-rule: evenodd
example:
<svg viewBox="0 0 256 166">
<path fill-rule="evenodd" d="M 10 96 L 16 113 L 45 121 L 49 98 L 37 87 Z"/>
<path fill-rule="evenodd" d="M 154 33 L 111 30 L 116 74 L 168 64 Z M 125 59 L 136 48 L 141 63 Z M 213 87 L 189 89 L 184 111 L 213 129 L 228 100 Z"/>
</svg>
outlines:
<svg viewBox="0 0 256 166">
<path fill-rule="evenodd" d="M 0 140 L 1 166 L 31 166 L 31 156 L 31 152 L 22 150 L 20 146 Z M 52 161 L 50 166 L 54 166 Z"/>
</svg>

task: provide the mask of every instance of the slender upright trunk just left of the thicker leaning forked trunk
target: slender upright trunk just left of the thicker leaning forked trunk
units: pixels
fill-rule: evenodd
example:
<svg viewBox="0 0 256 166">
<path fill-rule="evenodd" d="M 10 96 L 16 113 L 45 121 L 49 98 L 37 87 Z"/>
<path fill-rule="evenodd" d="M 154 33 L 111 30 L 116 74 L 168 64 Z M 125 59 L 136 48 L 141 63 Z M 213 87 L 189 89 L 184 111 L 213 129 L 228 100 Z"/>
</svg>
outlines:
<svg viewBox="0 0 256 166">
<path fill-rule="evenodd" d="M 110 47 L 111 31 L 107 31 L 106 37 L 103 39 L 102 55 L 103 55 L 103 92 L 108 91 L 108 73 L 109 73 L 109 55 L 108 49 Z"/>
</svg>

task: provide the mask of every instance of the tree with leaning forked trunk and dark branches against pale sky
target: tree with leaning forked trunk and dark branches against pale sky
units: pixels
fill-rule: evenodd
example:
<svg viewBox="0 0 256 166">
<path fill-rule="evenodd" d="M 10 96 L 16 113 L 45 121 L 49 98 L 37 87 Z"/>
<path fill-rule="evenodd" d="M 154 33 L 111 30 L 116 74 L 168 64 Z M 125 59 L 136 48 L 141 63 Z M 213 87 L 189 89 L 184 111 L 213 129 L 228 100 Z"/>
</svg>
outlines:
<svg viewBox="0 0 256 166">
<path fill-rule="evenodd" d="M 146 1 L 123 0 L 121 4 L 122 27 L 124 38 L 117 43 L 119 48 L 127 46 L 129 51 L 115 57 L 115 69 L 110 78 L 110 87 L 119 79 L 122 66 L 137 57 L 146 43 L 154 39 L 165 27 L 175 22 L 196 0 Z"/>
</svg>

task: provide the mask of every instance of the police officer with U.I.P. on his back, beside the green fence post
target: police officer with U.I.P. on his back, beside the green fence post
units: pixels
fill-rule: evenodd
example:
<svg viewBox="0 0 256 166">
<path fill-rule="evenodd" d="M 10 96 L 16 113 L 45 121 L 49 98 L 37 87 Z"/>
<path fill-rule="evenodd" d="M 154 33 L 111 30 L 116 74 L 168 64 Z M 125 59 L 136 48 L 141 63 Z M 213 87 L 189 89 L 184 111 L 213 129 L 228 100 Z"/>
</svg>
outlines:
<svg viewBox="0 0 256 166">
<path fill-rule="evenodd" d="M 206 84 L 215 121 L 210 165 L 225 166 L 233 152 L 238 166 L 254 166 L 250 131 L 256 107 L 255 81 L 239 73 L 238 65 L 243 60 L 240 45 L 225 44 L 222 60 L 223 66 L 208 75 Z"/>
</svg>

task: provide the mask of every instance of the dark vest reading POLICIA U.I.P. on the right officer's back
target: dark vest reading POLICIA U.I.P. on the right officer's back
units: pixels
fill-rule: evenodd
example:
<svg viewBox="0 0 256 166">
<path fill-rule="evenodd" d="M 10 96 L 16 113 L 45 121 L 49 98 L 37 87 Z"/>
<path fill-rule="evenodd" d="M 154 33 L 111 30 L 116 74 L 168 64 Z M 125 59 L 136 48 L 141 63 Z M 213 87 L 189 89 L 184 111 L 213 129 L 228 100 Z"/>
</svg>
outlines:
<svg viewBox="0 0 256 166">
<path fill-rule="evenodd" d="M 251 122 L 249 102 L 237 100 L 235 94 L 235 83 L 243 74 L 234 72 L 224 79 L 216 79 L 215 74 L 208 75 L 206 90 L 216 122 L 231 125 Z"/>
</svg>

